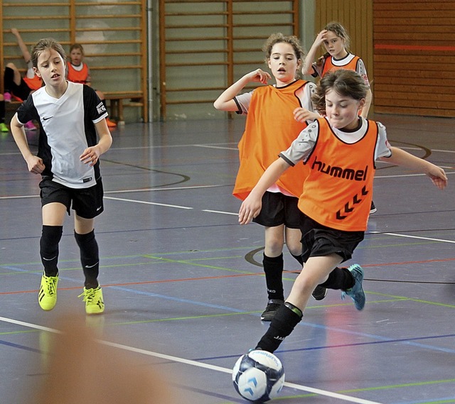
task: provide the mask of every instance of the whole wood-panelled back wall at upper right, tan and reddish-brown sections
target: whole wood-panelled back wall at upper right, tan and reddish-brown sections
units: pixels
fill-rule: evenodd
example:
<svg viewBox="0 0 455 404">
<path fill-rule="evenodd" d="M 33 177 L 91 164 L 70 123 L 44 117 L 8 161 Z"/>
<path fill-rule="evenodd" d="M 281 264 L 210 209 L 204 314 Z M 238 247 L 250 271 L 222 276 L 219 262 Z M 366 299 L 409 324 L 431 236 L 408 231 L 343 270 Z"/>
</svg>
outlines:
<svg viewBox="0 0 455 404">
<path fill-rule="evenodd" d="M 365 62 L 370 111 L 455 116 L 454 0 L 316 0 L 316 33 L 329 21 Z"/>
</svg>

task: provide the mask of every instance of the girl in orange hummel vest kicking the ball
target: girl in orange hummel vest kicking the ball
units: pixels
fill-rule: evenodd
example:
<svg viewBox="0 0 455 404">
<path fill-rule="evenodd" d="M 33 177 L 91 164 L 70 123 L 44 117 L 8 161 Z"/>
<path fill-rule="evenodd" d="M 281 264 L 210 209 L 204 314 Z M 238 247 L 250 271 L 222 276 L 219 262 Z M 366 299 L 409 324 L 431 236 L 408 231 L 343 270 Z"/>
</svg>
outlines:
<svg viewBox="0 0 455 404">
<path fill-rule="evenodd" d="M 352 70 L 325 75 L 316 90 L 316 105 L 326 116 L 317 119 L 283 151 L 265 171 L 240 207 L 240 224 L 249 223 L 261 209 L 267 187 L 288 168 L 301 161 L 309 166 L 299 198 L 303 234 L 304 271 L 272 319 L 256 349 L 273 352 L 303 317 L 316 285 L 342 290 L 353 299 L 355 308 L 365 306 L 363 268 L 354 264 L 338 268 L 351 258 L 363 240 L 373 188 L 374 161 L 385 160 L 424 173 L 444 189 L 444 170 L 400 148 L 390 147 L 385 127 L 358 116 L 365 104 L 366 86 Z M 359 150 L 362 153 L 359 153 Z"/>
</svg>

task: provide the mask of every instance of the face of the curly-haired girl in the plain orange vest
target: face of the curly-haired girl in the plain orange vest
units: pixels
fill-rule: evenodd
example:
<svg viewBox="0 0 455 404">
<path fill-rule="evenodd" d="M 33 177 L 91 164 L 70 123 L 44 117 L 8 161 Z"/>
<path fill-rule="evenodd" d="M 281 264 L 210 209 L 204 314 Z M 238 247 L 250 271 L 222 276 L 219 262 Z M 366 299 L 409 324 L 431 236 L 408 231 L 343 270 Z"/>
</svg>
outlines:
<svg viewBox="0 0 455 404">
<path fill-rule="evenodd" d="M 269 68 L 277 84 L 287 84 L 296 79 L 296 71 L 301 65 L 290 43 L 275 43 L 269 58 Z"/>
</svg>

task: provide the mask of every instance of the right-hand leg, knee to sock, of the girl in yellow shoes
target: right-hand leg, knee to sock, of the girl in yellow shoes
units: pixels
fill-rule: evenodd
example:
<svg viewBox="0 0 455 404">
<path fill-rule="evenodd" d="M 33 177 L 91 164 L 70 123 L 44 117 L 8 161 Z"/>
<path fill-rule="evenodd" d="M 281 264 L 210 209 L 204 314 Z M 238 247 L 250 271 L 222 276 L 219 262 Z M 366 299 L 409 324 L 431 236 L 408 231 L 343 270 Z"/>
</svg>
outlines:
<svg viewBox="0 0 455 404">
<path fill-rule="evenodd" d="M 80 249 L 80 262 L 85 275 L 85 288 L 98 287 L 100 256 L 93 228 L 95 219 L 84 219 L 75 214 L 75 239 Z"/>
</svg>

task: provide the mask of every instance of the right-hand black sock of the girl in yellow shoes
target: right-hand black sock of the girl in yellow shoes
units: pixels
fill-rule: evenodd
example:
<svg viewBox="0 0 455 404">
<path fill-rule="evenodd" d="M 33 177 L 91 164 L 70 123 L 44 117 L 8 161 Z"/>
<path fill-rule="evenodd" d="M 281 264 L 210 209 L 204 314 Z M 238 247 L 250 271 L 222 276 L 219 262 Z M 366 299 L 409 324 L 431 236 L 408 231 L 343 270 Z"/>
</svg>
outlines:
<svg viewBox="0 0 455 404">
<path fill-rule="evenodd" d="M 98 287 L 98 273 L 100 272 L 100 256 L 98 244 L 95 239 L 95 230 L 87 234 L 74 233 L 77 245 L 80 249 L 80 262 L 85 275 L 85 288 Z"/>
</svg>

